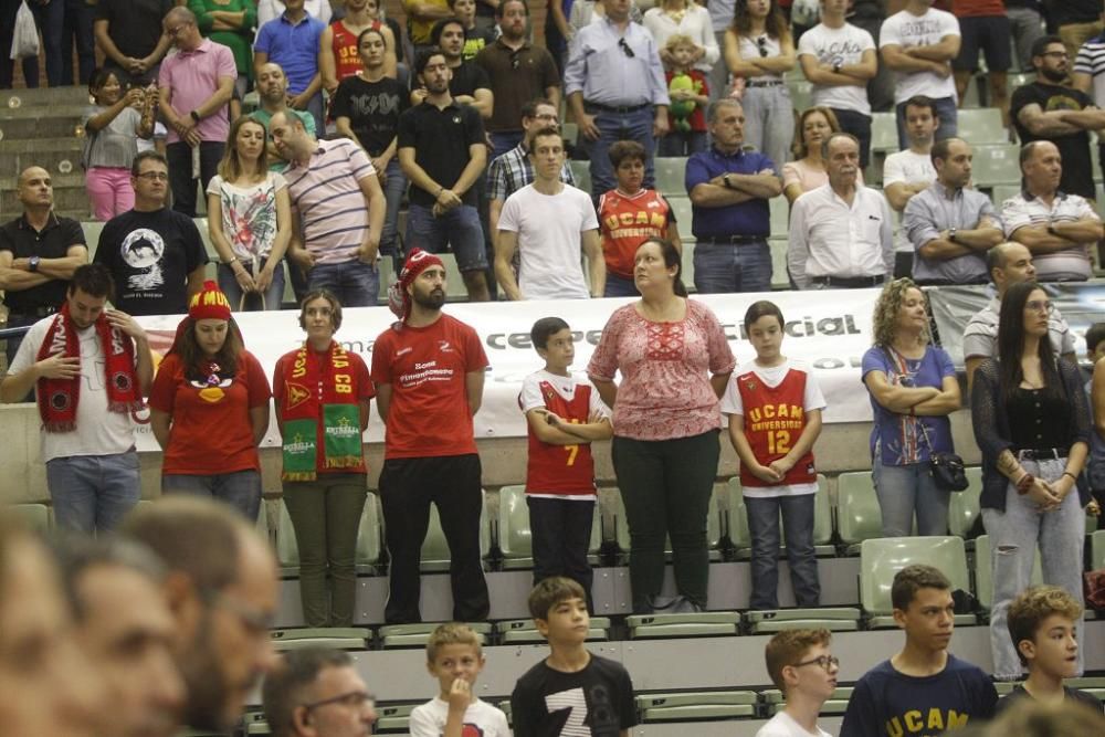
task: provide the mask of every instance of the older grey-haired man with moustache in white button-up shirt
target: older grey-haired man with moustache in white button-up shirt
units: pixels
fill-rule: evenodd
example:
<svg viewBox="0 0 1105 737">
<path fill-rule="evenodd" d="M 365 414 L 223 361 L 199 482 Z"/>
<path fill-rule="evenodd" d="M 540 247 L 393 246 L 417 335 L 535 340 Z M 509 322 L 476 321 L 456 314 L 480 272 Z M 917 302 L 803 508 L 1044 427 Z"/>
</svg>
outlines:
<svg viewBox="0 0 1105 737">
<path fill-rule="evenodd" d="M 787 265 L 799 289 L 881 285 L 894 271 L 886 198 L 856 186 L 860 143 L 834 133 L 822 144 L 829 182 L 794 201 Z"/>
</svg>

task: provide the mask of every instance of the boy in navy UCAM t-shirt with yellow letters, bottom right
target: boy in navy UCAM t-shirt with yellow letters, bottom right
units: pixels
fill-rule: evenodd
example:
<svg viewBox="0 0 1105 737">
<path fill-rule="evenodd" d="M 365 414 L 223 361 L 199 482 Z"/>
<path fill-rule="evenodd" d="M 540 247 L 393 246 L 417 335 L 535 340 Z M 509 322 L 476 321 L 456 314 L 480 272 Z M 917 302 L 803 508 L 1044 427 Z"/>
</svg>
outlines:
<svg viewBox="0 0 1105 737">
<path fill-rule="evenodd" d="M 906 566 L 891 586 L 905 647 L 855 684 L 841 737 L 935 735 L 993 716 L 998 693 L 980 668 L 948 652 L 951 582 L 932 566 Z"/>
</svg>

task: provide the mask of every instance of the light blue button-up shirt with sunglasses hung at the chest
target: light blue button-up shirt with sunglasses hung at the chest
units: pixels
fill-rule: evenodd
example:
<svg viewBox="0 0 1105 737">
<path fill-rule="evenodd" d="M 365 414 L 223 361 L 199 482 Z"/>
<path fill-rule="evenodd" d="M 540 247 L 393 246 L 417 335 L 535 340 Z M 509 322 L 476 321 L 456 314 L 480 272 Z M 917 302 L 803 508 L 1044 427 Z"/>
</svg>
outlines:
<svg viewBox="0 0 1105 737">
<path fill-rule="evenodd" d="M 625 48 L 633 52 L 632 57 Z M 630 22 L 622 35 L 608 18 L 580 30 L 571 41 L 564 94 L 575 92 L 583 93 L 589 103 L 610 107 L 671 102 L 652 34 L 640 23 Z"/>
</svg>

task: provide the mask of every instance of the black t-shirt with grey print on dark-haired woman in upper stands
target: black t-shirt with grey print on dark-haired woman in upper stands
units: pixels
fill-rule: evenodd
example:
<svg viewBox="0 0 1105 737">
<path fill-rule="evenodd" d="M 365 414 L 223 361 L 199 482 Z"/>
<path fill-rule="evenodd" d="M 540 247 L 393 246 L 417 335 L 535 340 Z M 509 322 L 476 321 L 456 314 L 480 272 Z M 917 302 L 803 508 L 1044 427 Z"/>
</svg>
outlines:
<svg viewBox="0 0 1105 737">
<path fill-rule="evenodd" d="M 341 80 L 330 113 L 349 118 L 349 127 L 369 156 L 379 156 L 399 131 L 399 116 L 410 107 L 407 88 L 391 77 L 368 82 L 354 75 Z"/>
</svg>

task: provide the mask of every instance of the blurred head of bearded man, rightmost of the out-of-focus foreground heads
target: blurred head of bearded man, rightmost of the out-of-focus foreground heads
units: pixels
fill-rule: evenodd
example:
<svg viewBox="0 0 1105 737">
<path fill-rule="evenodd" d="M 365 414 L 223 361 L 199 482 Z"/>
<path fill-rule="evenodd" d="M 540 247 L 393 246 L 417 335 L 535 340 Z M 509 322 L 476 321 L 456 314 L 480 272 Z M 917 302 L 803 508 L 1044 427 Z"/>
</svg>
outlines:
<svg viewBox="0 0 1105 737">
<path fill-rule="evenodd" d="M 276 664 L 276 560 L 265 540 L 221 502 L 168 496 L 135 510 L 120 531 L 165 564 L 176 621 L 173 657 L 187 696 L 183 725 L 230 731 L 246 696 Z"/>
</svg>

